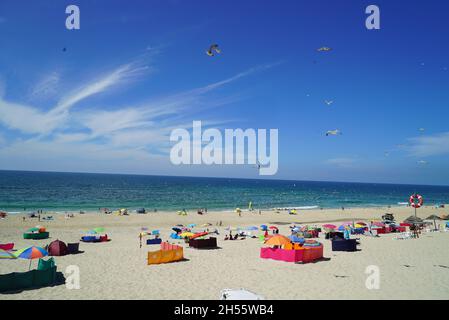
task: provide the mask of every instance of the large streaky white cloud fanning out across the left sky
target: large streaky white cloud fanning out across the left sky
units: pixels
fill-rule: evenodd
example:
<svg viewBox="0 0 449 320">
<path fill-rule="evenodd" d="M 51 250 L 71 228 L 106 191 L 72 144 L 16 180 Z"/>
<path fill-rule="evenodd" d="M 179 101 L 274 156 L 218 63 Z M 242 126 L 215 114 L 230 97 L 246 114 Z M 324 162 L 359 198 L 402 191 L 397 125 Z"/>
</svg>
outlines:
<svg viewBox="0 0 449 320">
<path fill-rule="evenodd" d="M 85 166 L 87 171 L 92 171 L 98 161 L 113 162 L 121 168 L 125 163 L 136 164 L 136 161 L 145 166 L 165 161 L 167 166 L 167 158 L 161 154 L 169 151 L 169 135 L 173 129 L 191 129 L 192 118 L 200 111 L 238 99 L 236 96 L 211 99 L 208 93 L 277 65 L 251 68 L 222 81 L 158 99 L 147 99 L 135 106 L 108 104 L 89 106 L 82 112 L 77 110 L 76 105 L 89 97 L 114 92 L 117 86 L 129 85 L 131 80 L 150 74 L 153 69 L 143 60 L 135 59 L 97 79 L 86 81 L 86 85 L 60 97 L 49 111 L 43 111 L 38 105 L 6 101 L 4 95 L 0 95 L 0 124 L 25 134 L 18 135 L 14 142 L 0 149 L 0 165 L 7 168 L 8 163 L 18 163 L 23 165 L 22 169 L 29 168 L 27 159 L 32 159 L 33 169 L 45 169 L 41 167 L 45 166 L 45 159 L 54 159 L 52 168 L 55 170 L 58 167 L 54 165 L 61 161 L 74 167 L 79 165 L 80 170 Z M 55 88 L 60 84 L 63 84 L 60 74 L 50 73 L 32 88 L 31 95 L 55 94 Z M 200 120 L 204 127 L 227 122 L 207 119 L 204 113 Z M 105 166 L 102 164 L 102 168 Z M 111 170 L 114 169 L 111 164 Z M 73 169 L 66 167 L 64 170 Z"/>
</svg>

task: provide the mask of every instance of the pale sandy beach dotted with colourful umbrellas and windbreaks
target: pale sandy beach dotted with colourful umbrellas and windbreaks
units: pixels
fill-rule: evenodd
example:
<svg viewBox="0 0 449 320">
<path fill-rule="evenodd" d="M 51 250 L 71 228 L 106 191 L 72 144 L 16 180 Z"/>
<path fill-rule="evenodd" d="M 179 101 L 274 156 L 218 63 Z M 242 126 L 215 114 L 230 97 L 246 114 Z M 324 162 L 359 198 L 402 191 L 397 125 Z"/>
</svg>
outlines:
<svg viewBox="0 0 449 320">
<path fill-rule="evenodd" d="M 392 212 L 397 221 L 413 214 L 411 208 L 365 208 L 342 210 L 310 210 L 298 215 L 274 211 L 158 212 L 129 216 L 98 213 L 75 214 L 66 219 L 55 215 L 54 221 L 41 221 L 24 215 L 9 215 L 0 220 L 0 243 L 14 242 L 16 248 L 45 246 L 55 239 L 77 242 L 86 230 L 104 227 L 112 239 L 107 243 L 81 243 L 77 255 L 55 257 L 58 271 L 69 265 L 80 268 L 81 288 L 69 290 L 65 285 L 2 294 L 2 299 L 218 299 L 224 288 L 245 288 L 265 299 L 448 299 L 449 298 L 449 233 L 424 232 L 419 239 L 394 240 L 395 234 L 378 238 L 358 236 L 360 251 L 332 252 L 329 240 L 321 238 L 325 259 L 316 263 L 293 264 L 261 259 L 259 239 L 224 241 L 225 228 L 261 224 L 277 225 L 280 233 L 290 234 L 292 223 L 321 225 L 327 222 L 380 219 Z M 424 207 L 418 216 L 447 214 L 445 209 Z M 216 226 L 221 221 L 222 226 Z M 148 251 L 158 246 L 139 248 L 141 227 L 160 229 L 167 240 L 176 224 L 211 223 L 218 228 L 216 250 L 195 250 L 183 241 L 170 239 L 184 246 L 185 261 L 146 264 Z M 50 239 L 24 240 L 22 233 L 35 225 L 45 226 Z M 199 228 L 201 230 L 201 228 Z M 354 236 L 353 236 L 354 237 Z M 28 270 L 28 260 L 0 260 L 0 273 Z M 368 290 L 365 281 L 367 266 L 380 270 L 380 289 Z M 33 261 L 32 266 L 37 266 Z"/>
</svg>

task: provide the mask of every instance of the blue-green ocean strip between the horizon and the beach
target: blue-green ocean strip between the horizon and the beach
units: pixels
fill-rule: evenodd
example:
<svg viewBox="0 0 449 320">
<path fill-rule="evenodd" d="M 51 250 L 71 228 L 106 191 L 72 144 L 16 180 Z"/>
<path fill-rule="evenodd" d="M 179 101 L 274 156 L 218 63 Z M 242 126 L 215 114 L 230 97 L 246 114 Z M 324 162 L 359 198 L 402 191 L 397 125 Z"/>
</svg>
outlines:
<svg viewBox="0 0 449 320">
<path fill-rule="evenodd" d="M 395 206 L 411 194 L 449 203 L 449 186 L 0 171 L 0 210 L 226 210 Z"/>
</svg>

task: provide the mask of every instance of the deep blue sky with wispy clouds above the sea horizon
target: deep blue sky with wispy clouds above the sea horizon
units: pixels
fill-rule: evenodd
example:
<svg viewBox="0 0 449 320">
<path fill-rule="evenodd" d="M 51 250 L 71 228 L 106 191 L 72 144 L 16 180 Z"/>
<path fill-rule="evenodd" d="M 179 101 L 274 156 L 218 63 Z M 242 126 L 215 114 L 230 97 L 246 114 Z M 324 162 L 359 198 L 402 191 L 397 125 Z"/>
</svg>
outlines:
<svg viewBox="0 0 449 320">
<path fill-rule="evenodd" d="M 80 30 L 65 28 L 69 4 Z M 365 28 L 370 4 L 380 30 Z M 251 166 L 173 166 L 171 130 L 201 120 L 279 129 L 270 178 L 448 184 L 448 9 L 3 0 L 0 169 L 259 178 Z"/>
</svg>

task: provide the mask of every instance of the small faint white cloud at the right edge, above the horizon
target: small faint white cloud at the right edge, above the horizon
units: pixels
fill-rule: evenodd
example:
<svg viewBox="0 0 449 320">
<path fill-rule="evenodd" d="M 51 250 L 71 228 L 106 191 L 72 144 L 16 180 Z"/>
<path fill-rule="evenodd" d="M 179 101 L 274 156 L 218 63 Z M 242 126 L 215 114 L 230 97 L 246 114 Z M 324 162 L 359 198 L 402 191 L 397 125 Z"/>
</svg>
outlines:
<svg viewBox="0 0 449 320">
<path fill-rule="evenodd" d="M 430 157 L 449 154 L 449 132 L 408 139 L 402 149 L 414 157 Z"/>
</svg>

